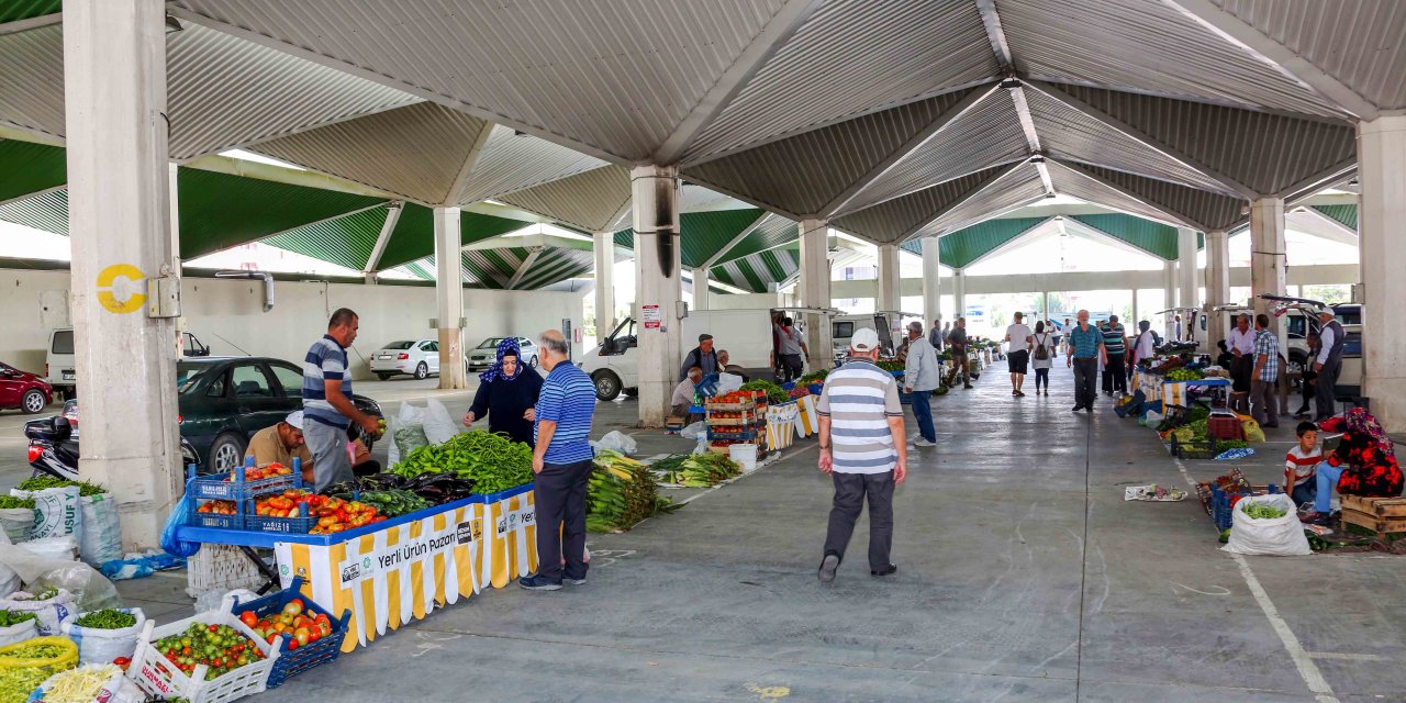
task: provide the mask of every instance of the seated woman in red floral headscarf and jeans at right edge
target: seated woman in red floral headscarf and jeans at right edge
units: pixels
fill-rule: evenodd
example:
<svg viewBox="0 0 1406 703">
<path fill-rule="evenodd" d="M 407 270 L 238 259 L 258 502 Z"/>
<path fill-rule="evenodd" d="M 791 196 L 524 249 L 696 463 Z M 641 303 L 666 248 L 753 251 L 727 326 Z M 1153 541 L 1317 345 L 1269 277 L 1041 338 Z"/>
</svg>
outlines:
<svg viewBox="0 0 1406 703">
<path fill-rule="evenodd" d="M 1334 423 L 1336 425 L 1336 423 Z M 1402 467 L 1392 440 L 1365 408 L 1353 408 L 1341 420 L 1343 439 L 1327 461 L 1317 465 L 1317 498 L 1303 522 L 1326 524 L 1331 510 L 1333 485 L 1340 495 L 1392 498 L 1402 495 Z M 1324 430 L 1334 427 L 1324 423 Z"/>
</svg>

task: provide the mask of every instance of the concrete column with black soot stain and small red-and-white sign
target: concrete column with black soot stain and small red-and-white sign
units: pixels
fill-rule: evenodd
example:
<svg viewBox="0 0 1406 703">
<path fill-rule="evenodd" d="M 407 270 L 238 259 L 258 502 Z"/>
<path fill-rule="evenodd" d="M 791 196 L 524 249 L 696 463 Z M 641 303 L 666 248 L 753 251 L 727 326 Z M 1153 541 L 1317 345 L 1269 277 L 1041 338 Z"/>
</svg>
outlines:
<svg viewBox="0 0 1406 703">
<path fill-rule="evenodd" d="M 669 416 L 669 395 L 683 360 L 678 319 L 683 301 L 679 236 L 679 172 L 673 166 L 636 166 L 634 285 L 640 308 L 640 426 L 659 427 Z"/>
</svg>

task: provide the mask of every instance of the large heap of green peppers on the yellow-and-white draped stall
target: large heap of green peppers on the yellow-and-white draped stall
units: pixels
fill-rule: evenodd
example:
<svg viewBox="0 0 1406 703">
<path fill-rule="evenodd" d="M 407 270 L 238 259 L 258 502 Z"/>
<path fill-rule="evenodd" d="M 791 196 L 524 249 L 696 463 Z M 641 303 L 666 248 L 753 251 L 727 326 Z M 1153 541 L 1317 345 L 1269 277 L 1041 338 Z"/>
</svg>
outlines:
<svg viewBox="0 0 1406 703">
<path fill-rule="evenodd" d="M 391 472 L 406 478 L 453 472 L 472 481 L 478 494 L 496 494 L 531 482 L 531 449 L 506 434 L 463 432 L 411 451 Z"/>
</svg>

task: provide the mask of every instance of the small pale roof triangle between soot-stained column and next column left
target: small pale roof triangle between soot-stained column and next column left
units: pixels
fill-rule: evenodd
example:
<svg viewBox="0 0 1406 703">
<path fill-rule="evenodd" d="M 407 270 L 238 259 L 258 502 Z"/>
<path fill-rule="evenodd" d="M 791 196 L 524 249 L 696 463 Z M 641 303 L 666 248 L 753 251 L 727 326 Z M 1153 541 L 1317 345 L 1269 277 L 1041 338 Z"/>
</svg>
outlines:
<svg viewBox="0 0 1406 703">
<path fill-rule="evenodd" d="M 453 202 L 470 204 L 606 166 L 595 156 L 495 125 Z"/>
</svg>

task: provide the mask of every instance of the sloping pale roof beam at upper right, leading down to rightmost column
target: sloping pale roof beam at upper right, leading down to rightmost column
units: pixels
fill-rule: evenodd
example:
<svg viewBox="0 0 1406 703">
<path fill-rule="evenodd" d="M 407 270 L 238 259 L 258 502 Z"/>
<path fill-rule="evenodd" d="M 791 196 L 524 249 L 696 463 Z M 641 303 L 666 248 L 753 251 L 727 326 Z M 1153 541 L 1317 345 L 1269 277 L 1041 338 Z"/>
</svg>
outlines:
<svg viewBox="0 0 1406 703">
<path fill-rule="evenodd" d="M 1284 77 L 1323 96 L 1330 105 L 1358 120 L 1376 120 L 1379 114 L 1376 105 L 1254 25 L 1216 7 L 1211 0 L 1163 0 L 1163 3 L 1234 44 Z"/>
</svg>

